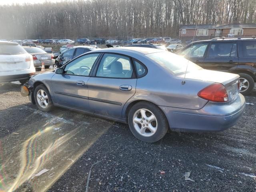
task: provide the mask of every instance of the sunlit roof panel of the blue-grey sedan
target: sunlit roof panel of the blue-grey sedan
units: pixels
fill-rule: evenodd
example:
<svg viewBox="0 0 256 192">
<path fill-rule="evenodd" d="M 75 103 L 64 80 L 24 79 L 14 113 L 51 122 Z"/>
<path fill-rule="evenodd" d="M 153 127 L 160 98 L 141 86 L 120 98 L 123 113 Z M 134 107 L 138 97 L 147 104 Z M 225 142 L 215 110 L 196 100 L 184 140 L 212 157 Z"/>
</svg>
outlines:
<svg viewBox="0 0 256 192">
<path fill-rule="evenodd" d="M 107 49 L 96 49 L 93 52 L 116 52 L 120 54 L 130 54 L 130 53 L 137 53 L 137 54 L 150 54 L 150 53 L 156 53 L 156 52 L 164 52 L 164 50 L 161 49 L 154 49 L 154 48 L 146 48 L 146 47 L 113 47 L 113 48 L 107 48 Z"/>
</svg>

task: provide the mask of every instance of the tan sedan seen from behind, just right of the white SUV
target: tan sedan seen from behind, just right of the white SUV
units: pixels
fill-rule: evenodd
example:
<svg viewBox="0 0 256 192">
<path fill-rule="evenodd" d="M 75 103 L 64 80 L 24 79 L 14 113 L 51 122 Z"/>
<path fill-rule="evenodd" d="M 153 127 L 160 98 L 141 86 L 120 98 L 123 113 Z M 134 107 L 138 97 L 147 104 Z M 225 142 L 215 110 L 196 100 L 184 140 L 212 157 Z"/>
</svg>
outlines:
<svg viewBox="0 0 256 192">
<path fill-rule="evenodd" d="M 50 68 L 51 65 L 54 65 L 53 54 L 47 53 L 38 47 L 24 47 L 24 49 L 32 55 L 34 66 L 36 68 L 42 67 L 42 63 L 44 63 L 46 69 Z"/>
</svg>

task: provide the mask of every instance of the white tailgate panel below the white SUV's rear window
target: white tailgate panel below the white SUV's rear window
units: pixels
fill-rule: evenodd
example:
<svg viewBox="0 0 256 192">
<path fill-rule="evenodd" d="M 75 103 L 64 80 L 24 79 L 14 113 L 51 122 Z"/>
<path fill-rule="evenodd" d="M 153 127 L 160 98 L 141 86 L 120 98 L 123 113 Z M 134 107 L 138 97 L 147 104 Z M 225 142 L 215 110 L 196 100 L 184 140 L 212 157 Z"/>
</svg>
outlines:
<svg viewBox="0 0 256 192">
<path fill-rule="evenodd" d="M 30 61 L 26 61 L 26 57 L 30 57 L 29 54 L 18 55 L 1 55 L 0 56 L 0 71 L 14 71 L 24 70 L 30 68 Z"/>
</svg>

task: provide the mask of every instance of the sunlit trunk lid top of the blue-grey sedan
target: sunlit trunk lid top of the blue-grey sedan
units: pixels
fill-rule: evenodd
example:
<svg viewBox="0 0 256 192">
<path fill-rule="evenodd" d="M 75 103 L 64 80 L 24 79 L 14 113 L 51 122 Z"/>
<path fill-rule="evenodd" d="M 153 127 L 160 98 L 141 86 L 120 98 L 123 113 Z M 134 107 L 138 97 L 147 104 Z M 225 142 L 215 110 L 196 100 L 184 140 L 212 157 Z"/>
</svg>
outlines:
<svg viewBox="0 0 256 192">
<path fill-rule="evenodd" d="M 185 74 L 182 74 L 178 77 L 184 78 L 184 76 Z M 237 80 L 239 78 L 239 75 L 233 73 L 200 69 L 187 73 L 186 78 L 216 82 L 226 85 L 234 80 Z"/>
</svg>

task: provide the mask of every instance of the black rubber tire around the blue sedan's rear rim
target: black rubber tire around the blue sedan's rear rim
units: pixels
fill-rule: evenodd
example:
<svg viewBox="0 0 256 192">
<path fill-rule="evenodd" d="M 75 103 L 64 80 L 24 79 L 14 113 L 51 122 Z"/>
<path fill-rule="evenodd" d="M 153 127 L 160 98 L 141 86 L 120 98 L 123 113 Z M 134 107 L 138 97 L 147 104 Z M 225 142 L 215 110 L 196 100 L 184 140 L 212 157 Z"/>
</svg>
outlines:
<svg viewBox="0 0 256 192">
<path fill-rule="evenodd" d="M 149 110 L 156 117 L 157 129 L 156 129 L 156 132 L 152 136 L 142 136 L 141 134 L 139 134 L 137 132 L 137 130 L 133 124 L 133 116 L 135 115 L 136 111 L 138 111 L 140 109 Z M 138 138 L 139 140 L 142 140 L 144 142 L 148 142 L 148 143 L 157 142 L 158 140 L 162 139 L 169 128 L 168 120 L 166 119 L 166 116 L 164 115 L 162 110 L 155 104 L 152 104 L 150 102 L 144 102 L 144 101 L 138 102 L 134 106 L 132 106 L 132 108 L 130 108 L 130 111 L 128 113 L 128 124 L 129 124 L 132 134 L 136 138 Z"/>
</svg>

